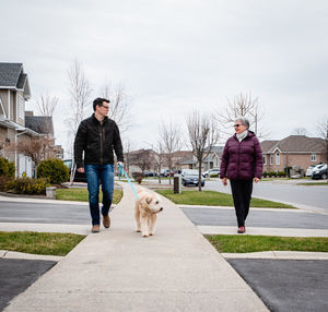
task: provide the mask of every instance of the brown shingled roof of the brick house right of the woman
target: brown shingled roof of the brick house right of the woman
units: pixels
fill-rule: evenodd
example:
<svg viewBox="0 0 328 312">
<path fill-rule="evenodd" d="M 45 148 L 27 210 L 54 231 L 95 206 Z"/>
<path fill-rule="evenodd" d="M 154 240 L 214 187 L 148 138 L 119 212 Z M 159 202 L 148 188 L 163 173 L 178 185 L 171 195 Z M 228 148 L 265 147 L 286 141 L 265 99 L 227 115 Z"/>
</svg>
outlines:
<svg viewBox="0 0 328 312">
<path fill-rule="evenodd" d="M 261 147 L 263 153 L 274 153 L 277 148 L 279 148 L 281 153 L 323 153 L 325 151 L 324 142 L 325 140 L 320 137 L 308 137 L 306 135 L 290 135 L 281 141 L 278 141 L 266 152 L 262 147 L 262 143 Z"/>
</svg>

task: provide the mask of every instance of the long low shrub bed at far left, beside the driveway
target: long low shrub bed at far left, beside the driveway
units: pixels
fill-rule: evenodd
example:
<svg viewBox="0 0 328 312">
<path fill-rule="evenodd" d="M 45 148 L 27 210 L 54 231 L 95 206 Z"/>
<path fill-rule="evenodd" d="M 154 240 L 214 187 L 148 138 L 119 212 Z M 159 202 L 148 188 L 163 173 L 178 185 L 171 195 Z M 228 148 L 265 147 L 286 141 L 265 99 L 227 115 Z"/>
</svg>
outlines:
<svg viewBox="0 0 328 312">
<path fill-rule="evenodd" d="M 17 194 L 46 194 L 46 188 L 49 184 L 45 178 L 17 178 L 5 183 L 5 191 L 11 191 Z"/>
</svg>

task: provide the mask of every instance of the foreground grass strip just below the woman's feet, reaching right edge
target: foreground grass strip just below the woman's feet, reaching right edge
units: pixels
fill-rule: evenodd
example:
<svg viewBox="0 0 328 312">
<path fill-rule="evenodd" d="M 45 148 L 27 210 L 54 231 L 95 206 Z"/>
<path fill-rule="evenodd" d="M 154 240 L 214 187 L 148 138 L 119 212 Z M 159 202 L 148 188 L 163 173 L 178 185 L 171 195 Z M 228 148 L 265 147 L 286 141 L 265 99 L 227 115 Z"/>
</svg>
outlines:
<svg viewBox="0 0 328 312">
<path fill-rule="evenodd" d="M 259 251 L 328 252 L 328 238 L 273 236 L 204 236 L 219 252 L 245 253 Z"/>
</svg>

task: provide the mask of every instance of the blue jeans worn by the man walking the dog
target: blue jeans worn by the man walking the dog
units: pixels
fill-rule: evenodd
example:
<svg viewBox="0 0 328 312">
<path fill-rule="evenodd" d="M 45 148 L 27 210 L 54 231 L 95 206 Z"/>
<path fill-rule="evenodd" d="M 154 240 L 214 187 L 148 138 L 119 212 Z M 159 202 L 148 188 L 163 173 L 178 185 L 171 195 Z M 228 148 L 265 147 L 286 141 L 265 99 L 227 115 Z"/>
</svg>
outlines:
<svg viewBox="0 0 328 312">
<path fill-rule="evenodd" d="M 103 191 L 102 215 L 107 216 L 114 192 L 114 165 L 85 165 L 85 176 L 92 225 L 99 225 L 99 183 L 102 183 Z"/>
</svg>

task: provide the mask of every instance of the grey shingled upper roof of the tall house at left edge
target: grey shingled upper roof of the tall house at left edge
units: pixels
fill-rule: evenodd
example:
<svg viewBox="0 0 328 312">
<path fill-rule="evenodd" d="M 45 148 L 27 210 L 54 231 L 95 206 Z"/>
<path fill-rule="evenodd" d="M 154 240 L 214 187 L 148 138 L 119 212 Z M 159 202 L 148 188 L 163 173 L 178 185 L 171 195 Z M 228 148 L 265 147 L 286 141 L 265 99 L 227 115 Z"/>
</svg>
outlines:
<svg viewBox="0 0 328 312">
<path fill-rule="evenodd" d="M 0 88 L 23 89 L 25 99 L 31 97 L 27 74 L 22 63 L 0 62 Z"/>
</svg>

